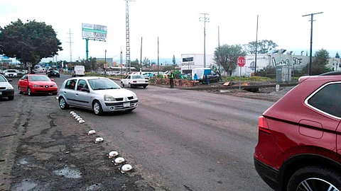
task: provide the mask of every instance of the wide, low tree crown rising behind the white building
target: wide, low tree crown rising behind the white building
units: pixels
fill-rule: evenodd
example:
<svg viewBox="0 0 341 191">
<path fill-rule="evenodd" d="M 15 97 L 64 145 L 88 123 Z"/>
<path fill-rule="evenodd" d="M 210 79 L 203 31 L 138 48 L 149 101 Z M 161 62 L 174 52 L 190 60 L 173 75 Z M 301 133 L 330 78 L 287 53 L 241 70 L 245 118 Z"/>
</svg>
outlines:
<svg viewBox="0 0 341 191">
<path fill-rule="evenodd" d="M 258 42 L 257 45 L 257 54 L 266 54 L 270 50 L 273 50 L 274 48 L 278 47 L 278 45 L 272 41 L 272 40 L 261 40 Z M 255 54 L 256 53 L 256 41 L 249 42 L 247 45 L 244 45 L 245 50 L 249 54 Z"/>
</svg>

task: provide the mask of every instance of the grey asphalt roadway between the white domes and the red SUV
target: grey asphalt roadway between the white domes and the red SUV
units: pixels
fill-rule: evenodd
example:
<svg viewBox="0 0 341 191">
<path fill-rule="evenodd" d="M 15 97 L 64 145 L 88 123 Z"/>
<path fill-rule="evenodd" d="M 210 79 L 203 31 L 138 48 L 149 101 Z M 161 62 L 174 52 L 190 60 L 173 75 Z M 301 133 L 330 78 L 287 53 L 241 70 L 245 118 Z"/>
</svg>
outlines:
<svg viewBox="0 0 341 191">
<path fill-rule="evenodd" d="M 55 81 L 60 86 L 68 77 Z M 92 111 L 54 107 L 53 115 L 77 112 L 104 138 L 105 149 L 117 149 L 137 173 L 161 190 L 271 190 L 254 170 L 253 152 L 258 117 L 273 103 L 158 86 L 131 91 L 137 94 L 139 107 L 130 114 L 96 116 Z M 17 96 L 21 95 L 13 101 L 0 100 L 0 115 L 7 116 L 1 117 L 1 124 L 15 126 L 21 115 L 15 109 L 24 105 Z M 58 106 L 52 98 L 41 101 Z M 12 134 L 2 126 L 1 131 Z"/>
</svg>

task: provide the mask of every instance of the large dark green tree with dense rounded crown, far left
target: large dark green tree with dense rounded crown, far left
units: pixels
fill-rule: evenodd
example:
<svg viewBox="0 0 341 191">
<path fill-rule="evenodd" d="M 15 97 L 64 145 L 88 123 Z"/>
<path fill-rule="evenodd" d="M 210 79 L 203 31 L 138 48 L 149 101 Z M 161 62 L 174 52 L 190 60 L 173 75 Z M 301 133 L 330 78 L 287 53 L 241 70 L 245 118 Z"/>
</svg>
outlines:
<svg viewBox="0 0 341 191">
<path fill-rule="evenodd" d="M 35 20 L 23 23 L 20 19 L 0 28 L 0 54 L 16 57 L 25 65 L 34 66 L 43 58 L 54 57 L 63 50 L 51 25 Z"/>
</svg>

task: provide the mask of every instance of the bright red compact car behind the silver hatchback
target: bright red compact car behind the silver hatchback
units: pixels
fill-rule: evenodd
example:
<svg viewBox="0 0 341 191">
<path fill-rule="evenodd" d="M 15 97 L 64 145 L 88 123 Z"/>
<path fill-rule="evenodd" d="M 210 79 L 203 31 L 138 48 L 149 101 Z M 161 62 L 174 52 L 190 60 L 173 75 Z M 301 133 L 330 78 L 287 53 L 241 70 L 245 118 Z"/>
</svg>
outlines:
<svg viewBox="0 0 341 191">
<path fill-rule="evenodd" d="M 57 95 L 58 87 L 53 79 L 43 74 L 26 74 L 18 81 L 19 93 L 28 93 L 32 96 L 34 93 L 52 93 Z"/>
</svg>

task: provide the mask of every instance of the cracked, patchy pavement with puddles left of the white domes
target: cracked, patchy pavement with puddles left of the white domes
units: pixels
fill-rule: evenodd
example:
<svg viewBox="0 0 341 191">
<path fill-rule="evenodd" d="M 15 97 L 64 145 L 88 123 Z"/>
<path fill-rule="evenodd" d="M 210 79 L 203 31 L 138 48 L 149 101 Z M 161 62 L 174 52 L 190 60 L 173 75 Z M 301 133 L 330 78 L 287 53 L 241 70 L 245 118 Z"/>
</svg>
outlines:
<svg viewBox="0 0 341 191">
<path fill-rule="evenodd" d="M 70 110 L 58 108 L 55 96 L 16 98 L 22 104 L 9 127 L 16 131 L 16 144 L 5 149 L 14 158 L 11 173 L 1 174 L 0 190 L 156 190 L 134 163 L 133 170 L 121 173 L 106 155 L 117 148 L 105 140 L 94 143 L 99 134 L 87 134 L 91 123 L 78 124 Z M 8 161 L 6 156 L 1 160 Z"/>
</svg>

